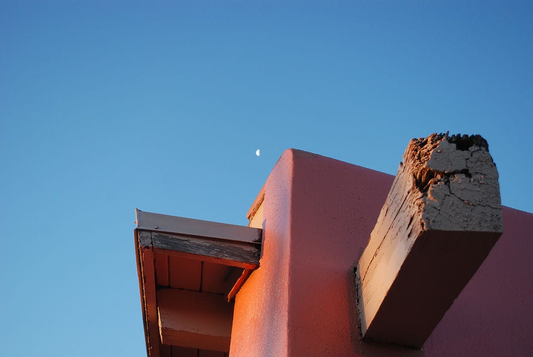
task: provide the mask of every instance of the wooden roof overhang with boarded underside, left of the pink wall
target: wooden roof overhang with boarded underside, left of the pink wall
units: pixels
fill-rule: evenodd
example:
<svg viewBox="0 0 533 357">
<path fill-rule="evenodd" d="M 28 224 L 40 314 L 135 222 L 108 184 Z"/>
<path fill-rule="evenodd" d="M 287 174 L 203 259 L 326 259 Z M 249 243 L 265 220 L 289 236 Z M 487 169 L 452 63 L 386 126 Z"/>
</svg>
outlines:
<svg viewBox="0 0 533 357">
<path fill-rule="evenodd" d="M 262 230 L 135 210 L 149 356 L 174 346 L 229 351 L 232 298 L 259 266 Z"/>
</svg>

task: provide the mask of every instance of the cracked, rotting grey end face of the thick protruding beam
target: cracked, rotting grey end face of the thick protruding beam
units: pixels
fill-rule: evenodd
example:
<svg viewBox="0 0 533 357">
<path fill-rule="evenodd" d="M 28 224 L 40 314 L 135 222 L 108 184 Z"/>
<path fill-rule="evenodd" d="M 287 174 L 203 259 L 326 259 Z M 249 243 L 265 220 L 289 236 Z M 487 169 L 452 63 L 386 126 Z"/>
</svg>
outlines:
<svg viewBox="0 0 533 357">
<path fill-rule="evenodd" d="M 413 139 L 404 155 L 425 205 L 425 229 L 503 232 L 498 172 L 480 135 L 432 134 Z M 454 221 L 446 214 L 461 214 Z M 459 224 L 459 227 L 458 227 Z"/>
</svg>

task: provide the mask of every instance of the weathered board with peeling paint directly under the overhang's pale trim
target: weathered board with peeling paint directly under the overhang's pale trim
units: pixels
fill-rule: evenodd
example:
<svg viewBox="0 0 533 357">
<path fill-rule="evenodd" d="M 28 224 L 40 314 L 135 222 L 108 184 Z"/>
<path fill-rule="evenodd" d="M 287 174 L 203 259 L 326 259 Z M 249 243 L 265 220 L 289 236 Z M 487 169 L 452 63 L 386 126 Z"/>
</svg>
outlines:
<svg viewBox="0 0 533 357">
<path fill-rule="evenodd" d="M 207 262 L 255 269 L 259 266 L 260 246 L 243 242 L 220 241 L 208 238 L 153 232 L 154 250 L 169 255 L 196 256 Z"/>
</svg>

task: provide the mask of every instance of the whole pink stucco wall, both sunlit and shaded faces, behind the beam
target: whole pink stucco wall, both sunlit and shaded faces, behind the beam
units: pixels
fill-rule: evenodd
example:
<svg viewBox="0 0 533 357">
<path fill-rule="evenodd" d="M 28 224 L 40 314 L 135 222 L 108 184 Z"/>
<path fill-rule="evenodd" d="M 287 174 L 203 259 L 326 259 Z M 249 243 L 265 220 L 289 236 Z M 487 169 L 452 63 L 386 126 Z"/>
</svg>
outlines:
<svg viewBox="0 0 533 357">
<path fill-rule="evenodd" d="M 263 255 L 236 297 L 235 356 L 531 355 L 533 214 L 505 231 L 423 351 L 360 339 L 353 266 L 393 176 L 289 149 L 265 184 Z"/>
</svg>

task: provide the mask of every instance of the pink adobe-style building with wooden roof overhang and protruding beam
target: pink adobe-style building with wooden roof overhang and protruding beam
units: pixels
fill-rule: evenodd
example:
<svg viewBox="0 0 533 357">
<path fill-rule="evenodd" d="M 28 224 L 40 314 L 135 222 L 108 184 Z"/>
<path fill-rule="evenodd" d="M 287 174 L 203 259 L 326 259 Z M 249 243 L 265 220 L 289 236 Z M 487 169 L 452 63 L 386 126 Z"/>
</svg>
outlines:
<svg viewBox="0 0 533 357">
<path fill-rule="evenodd" d="M 148 355 L 533 355 L 533 214 L 500 209 L 499 191 L 495 204 L 464 186 L 489 199 L 463 199 L 466 208 L 438 196 L 442 182 L 453 196 L 454 177 L 484 183 L 490 172 L 404 171 L 401 181 L 400 171 L 394 181 L 289 149 L 248 227 L 138 210 Z M 394 203 L 411 176 L 430 199 Z M 437 201 L 467 219 L 443 225 L 424 206 Z"/>
</svg>

